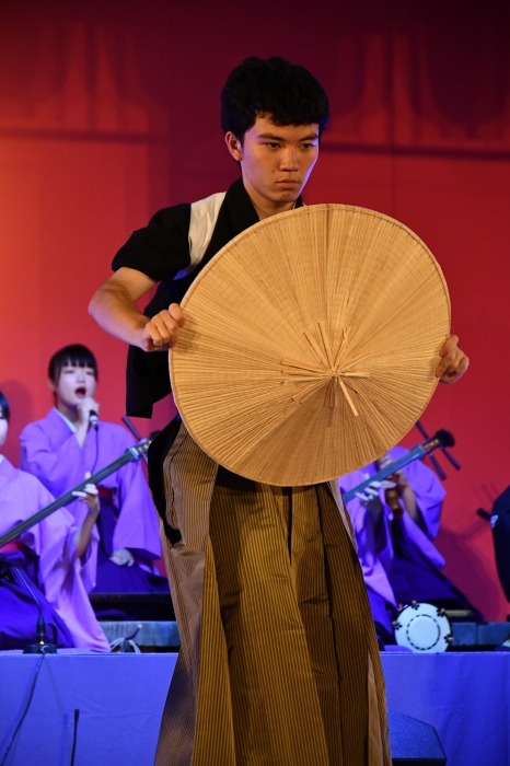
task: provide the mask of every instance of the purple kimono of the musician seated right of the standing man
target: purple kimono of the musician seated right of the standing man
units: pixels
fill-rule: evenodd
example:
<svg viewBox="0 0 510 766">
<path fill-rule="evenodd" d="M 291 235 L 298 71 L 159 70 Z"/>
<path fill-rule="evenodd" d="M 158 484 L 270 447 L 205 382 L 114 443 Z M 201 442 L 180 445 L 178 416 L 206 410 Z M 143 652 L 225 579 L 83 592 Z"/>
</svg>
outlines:
<svg viewBox="0 0 510 766">
<path fill-rule="evenodd" d="M 396 461 L 407 452 L 402 446 L 394 446 L 389 454 Z M 373 476 L 376 471 L 375 464 L 372 463 L 360 471 L 343 476 L 337 481 L 341 491 L 346 492 L 361 484 L 367 474 Z M 394 531 L 394 529 L 392 530 L 393 512 L 384 500 L 384 490 L 380 490 L 383 518 L 378 536 L 374 535 L 370 511 L 361 504 L 358 498 L 353 498 L 346 506 L 355 530 L 358 557 L 363 570 L 374 619 L 390 635 L 393 630 L 392 613 L 396 610 L 397 603 L 408 603 L 413 600 L 433 600 L 431 595 L 436 590 L 434 588 L 427 590 L 428 585 L 430 585 L 428 576 L 438 572 L 444 566 L 443 557 L 431 541 L 439 530 L 441 507 L 445 491 L 436 474 L 419 460 L 407 465 L 404 472 L 415 491 L 424 529 L 420 529 L 410 515 L 404 512 L 402 520 L 398 522 L 398 533 L 401 542 L 406 546 L 403 557 L 406 560 L 412 559 L 420 567 L 419 582 L 414 581 L 408 587 L 401 588 L 403 585 L 401 577 L 395 578 L 398 566 L 395 564 L 396 556 L 392 535 L 392 531 Z M 401 550 L 397 552 L 398 558 L 401 558 L 399 554 Z M 426 573 L 424 573 L 424 568 Z M 442 576 L 440 576 L 440 579 L 441 581 L 443 580 Z M 397 581 L 395 582 L 395 580 Z M 399 590 L 402 592 L 398 592 Z M 413 594 L 412 597 L 409 597 L 410 593 Z"/>
</svg>

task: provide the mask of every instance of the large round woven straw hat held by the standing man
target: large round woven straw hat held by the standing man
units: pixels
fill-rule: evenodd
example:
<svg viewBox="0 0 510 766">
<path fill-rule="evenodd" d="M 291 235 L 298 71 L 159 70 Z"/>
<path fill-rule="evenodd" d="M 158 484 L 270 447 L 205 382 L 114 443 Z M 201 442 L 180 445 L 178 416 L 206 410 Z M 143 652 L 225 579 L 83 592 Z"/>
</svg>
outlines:
<svg viewBox="0 0 510 766">
<path fill-rule="evenodd" d="M 450 302 L 402 223 L 316 205 L 232 240 L 182 303 L 177 408 L 201 449 L 266 484 L 360 468 L 413 427 L 436 385 Z"/>
</svg>

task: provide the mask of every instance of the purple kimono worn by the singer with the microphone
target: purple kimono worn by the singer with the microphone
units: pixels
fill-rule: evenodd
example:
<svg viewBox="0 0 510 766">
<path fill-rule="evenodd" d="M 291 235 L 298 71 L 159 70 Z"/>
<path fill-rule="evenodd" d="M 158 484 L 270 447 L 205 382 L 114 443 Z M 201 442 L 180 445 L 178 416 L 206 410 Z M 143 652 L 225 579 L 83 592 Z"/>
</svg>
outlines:
<svg viewBox="0 0 510 766">
<path fill-rule="evenodd" d="M 21 467 L 34 474 L 56 497 L 119 457 L 134 440 L 121 426 L 98 422 L 91 428 L 83 448 L 74 427 L 57 409 L 30 423 L 21 433 Z M 103 479 L 96 592 L 167 591 L 166 578 L 157 573 L 161 556 L 159 521 L 140 463 L 127 463 Z M 68 506 L 78 523 L 86 509 L 76 500 Z M 120 567 L 109 560 L 117 548 L 128 548 L 135 566 Z"/>
</svg>

